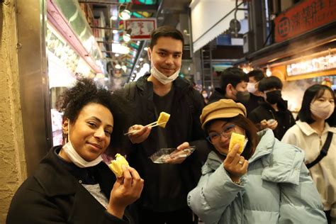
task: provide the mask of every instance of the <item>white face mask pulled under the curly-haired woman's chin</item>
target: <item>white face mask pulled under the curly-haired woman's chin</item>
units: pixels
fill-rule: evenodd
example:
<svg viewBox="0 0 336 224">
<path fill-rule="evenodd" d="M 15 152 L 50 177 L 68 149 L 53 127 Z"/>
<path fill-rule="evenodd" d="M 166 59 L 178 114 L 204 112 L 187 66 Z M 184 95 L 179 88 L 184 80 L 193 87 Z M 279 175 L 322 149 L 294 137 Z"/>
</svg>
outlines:
<svg viewBox="0 0 336 224">
<path fill-rule="evenodd" d="M 99 164 L 99 162 L 103 161 L 103 158 L 101 155 L 94 159 L 91 162 L 87 162 L 85 159 L 83 159 L 74 149 L 72 146 L 72 143 L 70 142 L 70 121 L 68 120 L 68 138 L 67 138 L 67 143 L 63 145 L 62 150 L 64 150 L 65 154 L 69 157 L 71 162 L 77 165 L 77 167 L 94 167 L 96 164 Z M 69 139 L 69 140 L 68 140 Z"/>
</svg>

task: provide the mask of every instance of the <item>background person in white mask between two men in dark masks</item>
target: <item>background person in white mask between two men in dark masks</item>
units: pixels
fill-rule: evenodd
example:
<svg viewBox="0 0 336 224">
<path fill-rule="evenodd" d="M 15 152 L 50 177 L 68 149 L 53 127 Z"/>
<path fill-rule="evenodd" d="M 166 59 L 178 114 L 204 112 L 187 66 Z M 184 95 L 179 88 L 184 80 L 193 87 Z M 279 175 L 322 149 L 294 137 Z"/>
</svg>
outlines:
<svg viewBox="0 0 336 224">
<path fill-rule="evenodd" d="M 247 91 L 250 92 L 250 100 L 246 104 L 247 114 L 253 111 L 259 106 L 260 103 L 264 101 L 260 91 L 258 90 L 260 80 L 264 79 L 264 72 L 262 70 L 256 69 L 252 70 L 247 74 L 249 76 L 249 83 L 247 83 Z"/>
</svg>

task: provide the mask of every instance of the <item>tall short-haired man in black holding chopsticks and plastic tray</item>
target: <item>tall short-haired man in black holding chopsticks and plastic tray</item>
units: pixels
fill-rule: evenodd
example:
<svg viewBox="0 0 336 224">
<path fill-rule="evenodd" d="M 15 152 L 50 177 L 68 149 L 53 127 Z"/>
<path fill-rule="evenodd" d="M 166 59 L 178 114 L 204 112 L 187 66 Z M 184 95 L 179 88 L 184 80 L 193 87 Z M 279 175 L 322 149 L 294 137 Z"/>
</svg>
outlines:
<svg viewBox="0 0 336 224">
<path fill-rule="evenodd" d="M 199 121 L 202 96 L 189 81 L 179 77 L 183 45 L 183 35 L 176 28 L 161 26 L 154 30 L 148 49 L 152 63 L 150 74 L 140 77 L 133 87 L 129 86 L 134 94 L 128 99 L 136 109 L 133 113 L 135 125 L 129 129 L 135 133 L 127 136 L 132 143 L 128 159 L 145 179 L 137 202 L 140 223 L 144 224 L 194 223 L 186 194 L 201 177 L 202 162 L 208 151 L 200 159 L 198 153 L 204 148 L 196 147 L 189 157 L 172 158 L 164 164 L 155 164 L 149 158 L 161 148 L 184 150 L 189 142 L 199 139 L 206 144 Z M 123 91 L 127 95 L 127 86 Z M 162 111 L 170 114 L 165 128 L 147 126 L 157 121 Z"/>
</svg>

